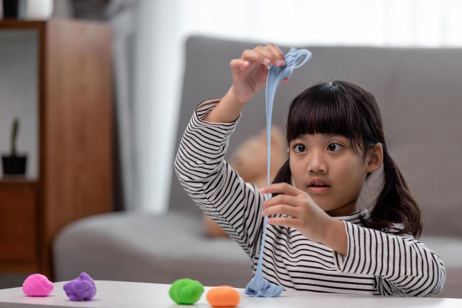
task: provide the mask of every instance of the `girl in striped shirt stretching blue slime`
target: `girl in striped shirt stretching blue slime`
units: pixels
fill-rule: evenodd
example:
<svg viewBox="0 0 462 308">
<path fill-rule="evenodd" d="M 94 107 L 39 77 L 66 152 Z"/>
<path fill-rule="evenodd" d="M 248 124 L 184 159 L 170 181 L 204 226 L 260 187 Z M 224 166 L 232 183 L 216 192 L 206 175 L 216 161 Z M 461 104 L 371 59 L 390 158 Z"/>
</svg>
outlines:
<svg viewBox="0 0 462 308">
<path fill-rule="evenodd" d="M 332 81 L 295 97 L 286 126 L 289 159 L 260 191 L 226 163 L 230 135 L 245 104 L 265 88 L 270 63 L 285 65 L 276 45 L 245 50 L 230 62 L 233 85 L 226 95 L 196 107 L 175 159 L 188 195 L 249 255 L 254 275 L 269 216 L 263 276 L 285 290 L 440 293 L 443 261 L 414 238 L 422 231 L 421 211 L 387 151 L 368 91 Z M 360 210 L 361 188 L 382 164 L 385 181 L 375 206 L 371 213 Z"/>
</svg>

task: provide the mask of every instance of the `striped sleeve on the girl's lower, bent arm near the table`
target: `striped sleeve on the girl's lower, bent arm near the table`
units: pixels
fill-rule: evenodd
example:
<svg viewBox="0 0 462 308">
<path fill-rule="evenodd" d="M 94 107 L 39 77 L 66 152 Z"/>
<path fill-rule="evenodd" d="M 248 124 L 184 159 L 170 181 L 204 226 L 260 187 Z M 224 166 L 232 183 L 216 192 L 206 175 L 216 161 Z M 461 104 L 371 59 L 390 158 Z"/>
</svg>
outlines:
<svg viewBox="0 0 462 308">
<path fill-rule="evenodd" d="M 347 254 L 333 252 L 338 271 L 376 275 L 376 295 L 426 297 L 443 290 L 443 261 L 411 234 L 395 235 L 402 224 L 379 231 L 344 223 Z"/>
</svg>

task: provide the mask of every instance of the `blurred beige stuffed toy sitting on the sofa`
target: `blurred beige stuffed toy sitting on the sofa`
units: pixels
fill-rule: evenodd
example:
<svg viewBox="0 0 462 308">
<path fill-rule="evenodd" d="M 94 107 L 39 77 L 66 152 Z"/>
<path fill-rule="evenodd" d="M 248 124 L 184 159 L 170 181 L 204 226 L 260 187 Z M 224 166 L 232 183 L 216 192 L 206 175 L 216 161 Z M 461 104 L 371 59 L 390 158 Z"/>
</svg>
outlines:
<svg viewBox="0 0 462 308">
<path fill-rule="evenodd" d="M 271 127 L 271 155 L 270 155 L 270 183 L 282 165 L 287 161 L 286 137 L 282 130 L 273 125 Z M 232 169 L 244 181 L 261 188 L 268 184 L 267 180 L 267 131 L 263 128 L 260 133 L 244 140 L 231 155 L 228 162 Z M 218 223 L 215 223 L 205 213 L 203 214 L 207 236 L 227 236 Z"/>
</svg>

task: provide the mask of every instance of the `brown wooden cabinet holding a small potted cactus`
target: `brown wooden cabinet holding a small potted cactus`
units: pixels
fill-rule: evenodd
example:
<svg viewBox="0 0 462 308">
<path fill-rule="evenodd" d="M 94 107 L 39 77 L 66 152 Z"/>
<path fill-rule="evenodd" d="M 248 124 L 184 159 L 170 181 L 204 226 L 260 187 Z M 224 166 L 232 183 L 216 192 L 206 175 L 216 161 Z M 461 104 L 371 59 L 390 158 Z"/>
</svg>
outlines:
<svg viewBox="0 0 462 308">
<path fill-rule="evenodd" d="M 37 82 L 24 83 L 35 85 L 36 106 L 21 109 L 35 112 L 29 138 L 36 151 L 28 153 L 28 169 L 35 172 L 0 180 L 0 272 L 39 272 L 53 280 L 56 233 L 79 218 L 113 210 L 111 28 L 76 20 L 0 21 L 0 34 L 21 32 L 36 42 L 30 74 Z M 1 78 L 14 76 L 16 66 L 8 67 L 11 73 L 0 72 Z M 2 97 L 21 86 L 2 88 Z M 6 104 L 0 100 L 3 115 L 12 106 Z"/>
</svg>

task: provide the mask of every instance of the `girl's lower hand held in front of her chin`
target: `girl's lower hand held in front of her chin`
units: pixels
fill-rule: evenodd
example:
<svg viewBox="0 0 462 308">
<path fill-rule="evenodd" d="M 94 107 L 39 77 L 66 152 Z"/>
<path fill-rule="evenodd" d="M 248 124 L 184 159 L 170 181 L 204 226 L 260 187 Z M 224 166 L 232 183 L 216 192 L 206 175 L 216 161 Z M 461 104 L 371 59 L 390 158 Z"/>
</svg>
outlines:
<svg viewBox="0 0 462 308">
<path fill-rule="evenodd" d="M 323 211 L 310 195 L 288 183 L 276 183 L 260 188 L 260 193 L 280 193 L 265 200 L 263 217 L 284 214 L 290 217 L 268 217 L 268 223 L 292 227 L 310 241 L 325 243 L 328 230 L 337 219 Z"/>
</svg>

